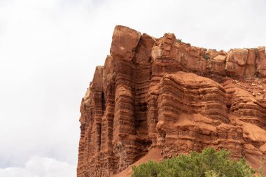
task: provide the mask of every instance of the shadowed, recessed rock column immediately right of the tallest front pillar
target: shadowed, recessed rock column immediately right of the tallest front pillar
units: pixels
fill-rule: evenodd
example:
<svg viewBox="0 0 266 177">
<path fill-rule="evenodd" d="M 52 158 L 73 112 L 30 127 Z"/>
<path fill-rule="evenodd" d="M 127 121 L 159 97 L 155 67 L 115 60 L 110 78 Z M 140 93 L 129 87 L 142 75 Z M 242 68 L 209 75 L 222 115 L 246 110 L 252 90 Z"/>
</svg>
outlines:
<svg viewBox="0 0 266 177">
<path fill-rule="evenodd" d="M 135 129 L 139 143 L 139 157 L 148 152 L 151 146 L 151 139 L 148 137 L 147 123 L 147 100 L 148 88 L 151 77 L 151 50 L 155 43 L 155 38 L 143 34 L 135 52 L 132 65 L 132 81 L 134 82 L 134 117 Z"/>
</svg>

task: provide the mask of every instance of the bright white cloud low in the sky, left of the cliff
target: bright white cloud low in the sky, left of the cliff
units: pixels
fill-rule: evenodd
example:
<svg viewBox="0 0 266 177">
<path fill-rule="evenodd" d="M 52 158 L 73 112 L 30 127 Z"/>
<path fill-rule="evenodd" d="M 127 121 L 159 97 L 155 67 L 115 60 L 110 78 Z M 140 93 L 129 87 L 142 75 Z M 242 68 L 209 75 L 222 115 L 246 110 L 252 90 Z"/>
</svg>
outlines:
<svg viewBox="0 0 266 177">
<path fill-rule="evenodd" d="M 76 167 L 48 157 L 31 157 L 25 167 L 0 169 L 0 177 L 73 177 Z"/>
</svg>

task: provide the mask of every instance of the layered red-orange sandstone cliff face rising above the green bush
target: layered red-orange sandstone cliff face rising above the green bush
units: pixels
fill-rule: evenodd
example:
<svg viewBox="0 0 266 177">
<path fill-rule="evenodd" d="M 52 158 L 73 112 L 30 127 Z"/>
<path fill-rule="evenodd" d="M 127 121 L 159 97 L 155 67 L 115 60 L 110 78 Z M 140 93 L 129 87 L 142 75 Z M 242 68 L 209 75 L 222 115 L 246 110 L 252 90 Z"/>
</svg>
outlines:
<svg viewBox="0 0 266 177">
<path fill-rule="evenodd" d="M 160 148 L 266 156 L 265 47 L 207 50 L 116 26 L 80 106 L 78 177 L 112 176 Z"/>
</svg>

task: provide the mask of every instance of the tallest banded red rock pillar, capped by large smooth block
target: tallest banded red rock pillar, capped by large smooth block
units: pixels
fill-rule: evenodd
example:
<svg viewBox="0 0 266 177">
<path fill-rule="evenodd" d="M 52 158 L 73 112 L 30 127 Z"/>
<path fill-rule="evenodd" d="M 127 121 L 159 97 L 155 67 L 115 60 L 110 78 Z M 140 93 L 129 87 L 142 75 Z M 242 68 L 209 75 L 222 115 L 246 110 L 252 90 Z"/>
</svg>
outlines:
<svg viewBox="0 0 266 177">
<path fill-rule="evenodd" d="M 140 37 L 141 34 L 134 29 L 116 26 L 110 50 L 116 73 L 113 153 L 118 157 L 118 171 L 132 164 L 137 155 L 131 76 L 132 59 Z"/>
</svg>

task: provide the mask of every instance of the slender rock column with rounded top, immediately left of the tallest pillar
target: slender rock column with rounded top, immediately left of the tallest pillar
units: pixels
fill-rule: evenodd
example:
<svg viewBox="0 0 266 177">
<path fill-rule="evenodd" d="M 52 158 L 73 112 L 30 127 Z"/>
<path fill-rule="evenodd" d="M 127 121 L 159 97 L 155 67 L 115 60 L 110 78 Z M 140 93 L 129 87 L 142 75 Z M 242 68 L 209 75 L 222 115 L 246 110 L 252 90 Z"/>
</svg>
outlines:
<svg viewBox="0 0 266 177">
<path fill-rule="evenodd" d="M 100 176 L 112 176 L 117 169 L 117 158 L 113 155 L 113 115 L 115 107 L 116 83 L 114 79 L 113 58 L 106 57 L 104 64 L 102 104 L 104 116 L 102 118 L 102 137 L 100 152 Z"/>
</svg>

